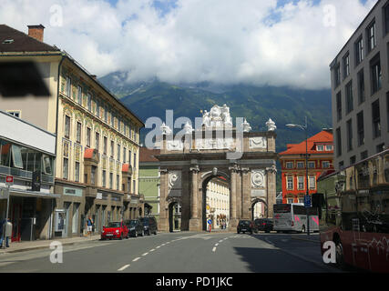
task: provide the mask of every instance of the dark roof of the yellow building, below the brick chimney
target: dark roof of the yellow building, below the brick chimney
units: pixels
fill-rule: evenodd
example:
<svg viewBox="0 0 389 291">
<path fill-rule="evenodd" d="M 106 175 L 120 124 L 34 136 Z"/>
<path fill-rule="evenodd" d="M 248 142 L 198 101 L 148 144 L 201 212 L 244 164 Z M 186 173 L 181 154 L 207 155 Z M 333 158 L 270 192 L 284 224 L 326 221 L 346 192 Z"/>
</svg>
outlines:
<svg viewBox="0 0 389 291">
<path fill-rule="evenodd" d="M 10 41 L 5 44 L 5 40 Z M 8 25 L 0 25 L 0 53 L 12 52 L 60 52 L 60 50 Z"/>
</svg>

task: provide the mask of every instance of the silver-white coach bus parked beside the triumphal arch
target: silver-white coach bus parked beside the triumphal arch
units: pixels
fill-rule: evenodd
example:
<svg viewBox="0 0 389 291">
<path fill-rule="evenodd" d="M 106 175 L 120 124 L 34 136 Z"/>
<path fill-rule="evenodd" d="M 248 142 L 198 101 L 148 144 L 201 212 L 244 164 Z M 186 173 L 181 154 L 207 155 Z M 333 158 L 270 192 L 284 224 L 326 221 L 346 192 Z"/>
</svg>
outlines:
<svg viewBox="0 0 389 291">
<path fill-rule="evenodd" d="M 319 231 L 319 217 L 317 208 L 308 208 L 310 219 L 310 233 Z M 273 230 L 281 232 L 308 231 L 307 208 L 303 204 L 275 204 L 273 206 Z"/>
</svg>

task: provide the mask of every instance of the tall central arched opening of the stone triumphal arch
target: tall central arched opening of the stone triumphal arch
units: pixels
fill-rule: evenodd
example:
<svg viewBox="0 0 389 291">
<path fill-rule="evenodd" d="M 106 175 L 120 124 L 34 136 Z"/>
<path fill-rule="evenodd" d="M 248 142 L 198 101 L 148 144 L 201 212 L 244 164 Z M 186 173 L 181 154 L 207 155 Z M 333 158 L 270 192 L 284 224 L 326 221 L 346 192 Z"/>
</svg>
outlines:
<svg viewBox="0 0 389 291">
<path fill-rule="evenodd" d="M 208 223 L 210 221 L 210 224 Z M 202 183 L 202 230 L 224 230 L 230 225 L 230 180 L 217 173 Z"/>
</svg>

